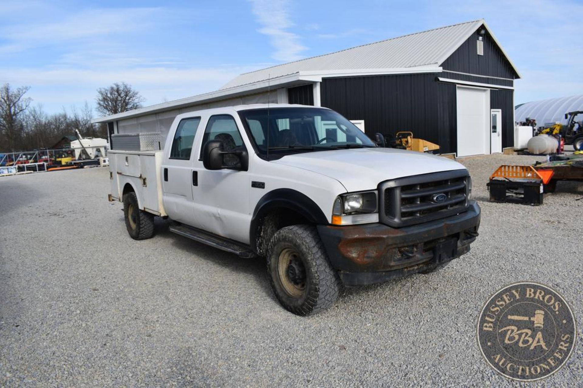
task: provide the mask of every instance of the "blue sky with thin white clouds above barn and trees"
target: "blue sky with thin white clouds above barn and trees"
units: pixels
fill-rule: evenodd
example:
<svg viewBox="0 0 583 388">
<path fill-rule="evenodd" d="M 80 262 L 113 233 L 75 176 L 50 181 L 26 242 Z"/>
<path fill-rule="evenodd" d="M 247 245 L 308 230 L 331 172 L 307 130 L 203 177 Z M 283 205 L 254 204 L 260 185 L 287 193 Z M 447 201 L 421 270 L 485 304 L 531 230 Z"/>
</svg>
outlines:
<svg viewBox="0 0 583 388">
<path fill-rule="evenodd" d="M 583 2 L 0 2 L 0 83 L 48 112 L 128 82 L 145 105 L 216 90 L 242 72 L 484 18 L 521 72 L 515 103 L 583 93 Z"/>
</svg>

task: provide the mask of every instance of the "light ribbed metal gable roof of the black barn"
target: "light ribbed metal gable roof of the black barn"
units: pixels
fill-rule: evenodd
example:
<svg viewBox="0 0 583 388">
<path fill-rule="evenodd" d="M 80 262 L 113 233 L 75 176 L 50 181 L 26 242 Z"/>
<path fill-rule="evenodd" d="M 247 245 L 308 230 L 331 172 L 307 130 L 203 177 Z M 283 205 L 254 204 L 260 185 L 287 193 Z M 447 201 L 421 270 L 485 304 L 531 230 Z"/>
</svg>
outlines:
<svg viewBox="0 0 583 388">
<path fill-rule="evenodd" d="M 302 71 L 439 66 L 482 25 L 500 46 L 483 19 L 473 20 L 244 73 L 223 89 Z"/>
</svg>

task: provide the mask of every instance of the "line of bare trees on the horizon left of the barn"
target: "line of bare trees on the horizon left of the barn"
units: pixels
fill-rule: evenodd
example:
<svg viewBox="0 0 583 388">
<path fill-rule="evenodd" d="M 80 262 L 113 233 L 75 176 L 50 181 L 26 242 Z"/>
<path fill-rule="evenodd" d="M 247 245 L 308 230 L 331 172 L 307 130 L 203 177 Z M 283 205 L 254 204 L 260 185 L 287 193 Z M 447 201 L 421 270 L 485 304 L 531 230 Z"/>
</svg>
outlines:
<svg viewBox="0 0 583 388">
<path fill-rule="evenodd" d="M 91 124 L 93 110 L 85 102 L 81 108 L 63 109 L 47 114 L 41 105 L 31 107 L 32 99 L 26 96 L 30 87 L 14 88 L 6 83 L 0 87 L 0 152 L 47 149 L 65 135 L 107 139 L 106 125 Z M 97 89 L 97 112 L 111 115 L 140 108 L 143 98 L 127 83 L 114 83 Z"/>
</svg>

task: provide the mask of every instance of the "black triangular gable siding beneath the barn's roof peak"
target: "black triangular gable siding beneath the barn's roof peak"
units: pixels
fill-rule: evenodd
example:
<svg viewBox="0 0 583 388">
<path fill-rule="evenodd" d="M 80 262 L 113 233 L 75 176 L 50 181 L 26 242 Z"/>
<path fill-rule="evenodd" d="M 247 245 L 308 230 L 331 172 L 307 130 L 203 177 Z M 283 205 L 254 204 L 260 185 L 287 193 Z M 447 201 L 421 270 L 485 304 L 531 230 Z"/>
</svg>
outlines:
<svg viewBox="0 0 583 388">
<path fill-rule="evenodd" d="M 478 29 L 480 30 L 480 29 Z M 518 74 L 490 34 L 483 37 L 484 55 L 477 55 L 477 31 L 441 64 L 444 70 L 509 79 Z"/>
</svg>

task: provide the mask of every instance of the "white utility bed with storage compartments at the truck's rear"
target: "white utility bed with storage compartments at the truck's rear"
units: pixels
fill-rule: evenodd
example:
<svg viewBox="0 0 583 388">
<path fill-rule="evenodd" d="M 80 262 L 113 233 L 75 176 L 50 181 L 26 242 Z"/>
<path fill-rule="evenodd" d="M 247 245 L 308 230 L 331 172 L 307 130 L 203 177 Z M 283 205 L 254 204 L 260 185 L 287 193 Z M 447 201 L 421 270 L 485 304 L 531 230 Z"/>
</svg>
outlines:
<svg viewBox="0 0 583 388">
<path fill-rule="evenodd" d="M 156 216 L 166 216 L 162 203 L 160 165 L 164 151 L 110 150 L 111 195 L 109 200 L 124 200 L 124 189 L 136 190 L 141 210 Z M 128 186 L 127 186 L 128 185 Z"/>
</svg>

